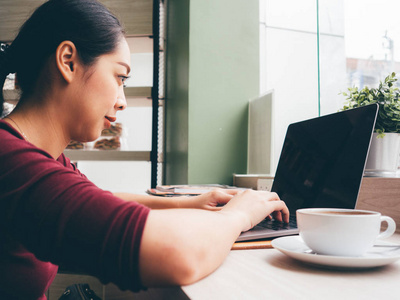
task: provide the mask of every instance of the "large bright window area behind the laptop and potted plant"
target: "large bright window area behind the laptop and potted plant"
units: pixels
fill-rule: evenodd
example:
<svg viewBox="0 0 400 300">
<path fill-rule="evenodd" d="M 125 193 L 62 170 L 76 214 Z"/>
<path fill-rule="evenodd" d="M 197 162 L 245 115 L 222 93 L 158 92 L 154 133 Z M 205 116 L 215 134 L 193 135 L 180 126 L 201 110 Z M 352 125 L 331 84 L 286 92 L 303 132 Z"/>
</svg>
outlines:
<svg viewBox="0 0 400 300">
<path fill-rule="evenodd" d="M 260 94 L 273 90 L 273 168 L 290 123 L 337 112 L 348 87 L 400 75 L 396 0 L 260 0 Z"/>
</svg>

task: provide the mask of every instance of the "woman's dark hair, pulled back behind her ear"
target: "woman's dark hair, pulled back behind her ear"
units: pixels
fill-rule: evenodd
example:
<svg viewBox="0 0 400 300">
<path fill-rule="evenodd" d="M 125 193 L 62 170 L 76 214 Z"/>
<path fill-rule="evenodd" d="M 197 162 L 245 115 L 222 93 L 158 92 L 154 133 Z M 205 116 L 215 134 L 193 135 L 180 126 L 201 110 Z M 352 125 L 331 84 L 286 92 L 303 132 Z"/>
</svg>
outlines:
<svg viewBox="0 0 400 300">
<path fill-rule="evenodd" d="M 16 73 L 22 95 L 28 95 L 61 42 L 73 42 L 82 62 L 91 65 L 112 52 L 123 35 L 118 19 L 96 0 L 49 0 L 22 25 L 8 49 L 0 49 L 0 85 Z M 1 92 L 0 115 L 3 103 Z"/>
</svg>

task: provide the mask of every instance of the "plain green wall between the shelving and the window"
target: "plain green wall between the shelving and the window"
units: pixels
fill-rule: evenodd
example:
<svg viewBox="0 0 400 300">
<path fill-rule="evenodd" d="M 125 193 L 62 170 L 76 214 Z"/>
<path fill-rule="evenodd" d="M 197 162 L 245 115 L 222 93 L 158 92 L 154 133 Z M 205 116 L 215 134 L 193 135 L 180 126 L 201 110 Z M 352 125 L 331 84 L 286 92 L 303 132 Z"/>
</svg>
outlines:
<svg viewBox="0 0 400 300">
<path fill-rule="evenodd" d="M 168 6 L 165 181 L 232 184 L 259 92 L 258 1 Z"/>
</svg>

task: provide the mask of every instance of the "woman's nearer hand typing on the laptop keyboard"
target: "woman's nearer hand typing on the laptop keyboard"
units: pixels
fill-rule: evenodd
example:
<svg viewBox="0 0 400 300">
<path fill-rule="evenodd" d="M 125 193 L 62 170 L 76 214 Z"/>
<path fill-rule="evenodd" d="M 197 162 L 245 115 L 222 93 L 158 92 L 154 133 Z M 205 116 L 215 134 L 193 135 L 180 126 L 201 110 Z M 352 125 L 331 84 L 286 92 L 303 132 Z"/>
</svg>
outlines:
<svg viewBox="0 0 400 300">
<path fill-rule="evenodd" d="M 246 190 L 227 203 L 221 213 L 242 215 L 243 229 L 247 231 L 269 215 L 278 221 L 289 222 L 289 209 L 276 193 Z"/>
</svg>

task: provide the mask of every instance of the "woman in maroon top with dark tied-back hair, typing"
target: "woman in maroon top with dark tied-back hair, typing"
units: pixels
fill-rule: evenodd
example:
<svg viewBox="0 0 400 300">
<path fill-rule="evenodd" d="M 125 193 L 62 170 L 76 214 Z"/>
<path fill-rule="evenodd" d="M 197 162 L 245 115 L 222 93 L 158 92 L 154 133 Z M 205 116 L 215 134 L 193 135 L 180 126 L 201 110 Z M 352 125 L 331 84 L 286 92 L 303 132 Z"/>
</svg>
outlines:
<svg viewBox="0 0 400 300">
<path fill-rule="evenodd" d="M 95 140 L 126 107 L 130 50 L 96 0 L 46 2 L 3 50 L 0 81 L 16 73 L 22 90 L 0 120 L 5 299 L 44 299 L 58 265 L 132 291 L 189 284 L 213 272 L 242 231 L 270 214 L 288 221 L 275 193 L 112 194 L 71 165 L 69 141 Z"/>
</svg>

